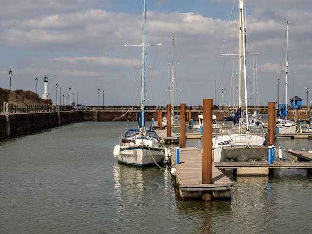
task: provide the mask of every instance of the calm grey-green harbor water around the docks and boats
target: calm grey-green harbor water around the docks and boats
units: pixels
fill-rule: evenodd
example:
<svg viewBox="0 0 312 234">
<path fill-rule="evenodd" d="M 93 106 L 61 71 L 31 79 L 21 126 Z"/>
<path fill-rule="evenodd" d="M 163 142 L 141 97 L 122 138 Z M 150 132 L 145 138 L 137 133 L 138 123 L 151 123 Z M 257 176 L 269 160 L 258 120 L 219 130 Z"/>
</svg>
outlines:
<svg viewBox="0 0 312 234">
<path fill-rule="evenodd" d="M 80 122 L 0 141 L 0 233 L 312 233 L 306 170 L 229 175 L 231 201 L 181 200 L 168 170 L 117 163 L 120 126 Z M 278 143 L 312 148 L 308 139 Z"/>
</svg>

